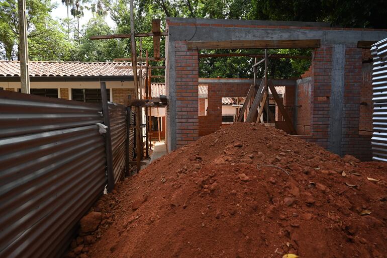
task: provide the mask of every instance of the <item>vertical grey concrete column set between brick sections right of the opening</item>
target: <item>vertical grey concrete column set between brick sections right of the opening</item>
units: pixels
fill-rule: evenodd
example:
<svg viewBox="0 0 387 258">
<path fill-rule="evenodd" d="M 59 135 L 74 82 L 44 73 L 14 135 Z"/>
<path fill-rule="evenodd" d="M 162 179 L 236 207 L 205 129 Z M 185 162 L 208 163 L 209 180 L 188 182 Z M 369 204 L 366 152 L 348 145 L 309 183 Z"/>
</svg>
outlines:
<svg viewBox="0 0 387 258">
<path fill-rule="evenodd" d="M 329 150 L 341 155 L 343 129 L 345 45 L 333 45 L 329 121 Z"/>
</svg>

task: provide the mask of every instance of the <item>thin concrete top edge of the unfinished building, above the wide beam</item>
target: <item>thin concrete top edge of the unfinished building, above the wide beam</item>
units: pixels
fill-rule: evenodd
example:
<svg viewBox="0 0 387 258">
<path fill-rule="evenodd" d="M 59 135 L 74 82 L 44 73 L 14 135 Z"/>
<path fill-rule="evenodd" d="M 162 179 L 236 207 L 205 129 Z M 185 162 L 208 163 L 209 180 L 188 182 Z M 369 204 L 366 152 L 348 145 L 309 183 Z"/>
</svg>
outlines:
<svg viewBox="0 0 387 258">
<path fill-rule="evenodd" d="M 255 20 L 201 19 L 201 18 L 167 18 L 167 21 L 174 22 L 174 23 L 223 24 L 223 25 L 330 27 L 329 23 L 319 23 L 319 22 L 255 21 Z"/>
</svg>

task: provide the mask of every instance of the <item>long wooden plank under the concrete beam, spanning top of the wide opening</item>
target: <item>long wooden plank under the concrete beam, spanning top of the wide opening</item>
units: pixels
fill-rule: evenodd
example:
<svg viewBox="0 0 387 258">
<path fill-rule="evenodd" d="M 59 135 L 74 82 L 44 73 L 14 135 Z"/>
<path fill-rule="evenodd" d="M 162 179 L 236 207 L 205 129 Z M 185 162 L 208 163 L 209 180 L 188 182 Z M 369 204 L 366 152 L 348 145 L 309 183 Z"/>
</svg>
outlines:
<svg viewBox="0 0 387 258">
<path fill-rule="evenodd" d="M 318 48 L 319 39 L 303 40 L 227 40 L 188 41 L 187 48 L 193 49 L 243 49 L 243 48 Z"/>
</svg>

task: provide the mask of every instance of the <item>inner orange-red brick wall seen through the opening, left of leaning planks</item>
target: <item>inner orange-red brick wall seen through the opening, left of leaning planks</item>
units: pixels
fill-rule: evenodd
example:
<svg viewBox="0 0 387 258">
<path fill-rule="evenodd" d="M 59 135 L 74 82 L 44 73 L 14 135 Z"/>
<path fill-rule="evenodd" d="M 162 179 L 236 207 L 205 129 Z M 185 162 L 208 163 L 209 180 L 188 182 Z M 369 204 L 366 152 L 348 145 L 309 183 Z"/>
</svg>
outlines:
<svg viewBox="0 0 387 258">
<path fill-rule="evenodd" d="M 224 79 L 222 79 L 224 80 Z M 250 82 L 208 83 L 207 116 L 199 117 L 199 136 L 217 131 L 222 126 L 222 97 L 245 97 Z"/>
</svg>

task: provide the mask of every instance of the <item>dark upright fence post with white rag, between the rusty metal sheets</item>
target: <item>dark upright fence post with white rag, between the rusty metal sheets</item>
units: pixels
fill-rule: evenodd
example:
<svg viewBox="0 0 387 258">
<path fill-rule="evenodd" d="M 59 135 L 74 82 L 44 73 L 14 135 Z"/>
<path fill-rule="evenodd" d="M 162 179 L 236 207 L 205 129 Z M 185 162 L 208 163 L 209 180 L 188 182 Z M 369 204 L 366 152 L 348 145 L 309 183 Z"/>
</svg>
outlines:
<svg viewBox="0 0 387 258">
<path fill-rule="evenodd" d="M 108 94 L 106 93 L 106 82 L 101 82 L 101 100 L 102 113 L 104 115 L 104 124 L 106 128 L 105 134 L 105 151 L 106 151 L 106 169 L 108 174 L 108 192 L 112 192 L 114 188 L 114 172 L 113 172 L 113 152 L 112 152 L 112 135 L 110 131 Z"/>
</svg>

